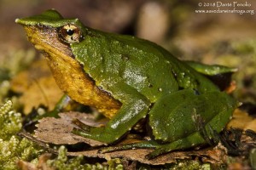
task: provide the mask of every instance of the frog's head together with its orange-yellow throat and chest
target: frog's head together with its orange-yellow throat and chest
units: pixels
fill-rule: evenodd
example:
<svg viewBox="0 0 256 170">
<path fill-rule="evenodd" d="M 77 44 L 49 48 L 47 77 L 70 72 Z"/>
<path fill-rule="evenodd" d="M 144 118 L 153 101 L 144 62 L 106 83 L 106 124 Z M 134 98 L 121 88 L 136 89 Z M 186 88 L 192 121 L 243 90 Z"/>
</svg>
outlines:
<svg viewBox="0 0 256 170">
<path fill-rule="evenodd" d="M 15 21 L 24 26 L 28 40 L 43 52 L 62 91 L 81 104 L 96 107 L 108 117 L 119 110 L 119 101 L 96 87 L 73 54 L 73 45 L 84 37 L 95 36 L 92 29 L 83 26 L 78 19 L 63 19 L 53 9 Z"/>
</svg>

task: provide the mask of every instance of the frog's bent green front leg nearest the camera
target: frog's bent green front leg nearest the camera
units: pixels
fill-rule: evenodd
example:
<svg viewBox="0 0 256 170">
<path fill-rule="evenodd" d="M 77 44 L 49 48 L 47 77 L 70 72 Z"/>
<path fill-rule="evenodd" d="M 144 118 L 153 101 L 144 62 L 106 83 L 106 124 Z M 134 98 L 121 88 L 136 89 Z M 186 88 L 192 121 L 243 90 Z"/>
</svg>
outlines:
<svg viewBox="0 0 256 170">
<path fill-rule="evenodd" d="M 106 144 L 113 143 L 126 132 L 131 130 L 149 111 L 150 101 L 140 94 L 137 89 L 119 82 L 115 84 L 114 97 L 122 103 L 120 110 L 105 127 L 74 128 L 73 133 L 84 138 L 95 139 Z"/>
</svg>

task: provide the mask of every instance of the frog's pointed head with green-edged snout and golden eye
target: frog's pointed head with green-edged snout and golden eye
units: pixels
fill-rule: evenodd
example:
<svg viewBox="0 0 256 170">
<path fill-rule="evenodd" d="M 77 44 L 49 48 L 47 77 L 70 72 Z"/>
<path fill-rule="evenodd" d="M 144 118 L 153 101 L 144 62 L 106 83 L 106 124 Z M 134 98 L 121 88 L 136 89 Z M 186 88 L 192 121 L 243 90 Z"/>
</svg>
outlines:
<svg viewBox="0 0 256 170">
<path fill-rule="evenodd" d="M 73 57 L 70 44 L 81 42 L 86 32 L 78 19 L 63 19 L 54 9 L 15 22 L 24 26 L 29 41 L 44 54 L 64 53 Z"/>
</svg>

